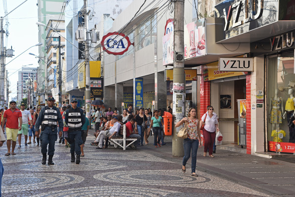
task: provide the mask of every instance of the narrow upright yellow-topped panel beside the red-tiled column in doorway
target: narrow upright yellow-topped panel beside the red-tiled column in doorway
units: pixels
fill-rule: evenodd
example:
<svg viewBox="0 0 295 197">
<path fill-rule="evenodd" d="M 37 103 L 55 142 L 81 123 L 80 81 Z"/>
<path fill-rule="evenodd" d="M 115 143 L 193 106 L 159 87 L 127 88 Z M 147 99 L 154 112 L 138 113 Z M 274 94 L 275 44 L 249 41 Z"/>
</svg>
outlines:
<svg viewBox="0 0 295 197">
<path fill-rule="evenodd" d="M 246 146 L 246 134 L 247 134 L 247 108 L 246 99 L 238 100 L 238 112 L 239 112 L 239 143 L 240 146 Z"/>
</svg>

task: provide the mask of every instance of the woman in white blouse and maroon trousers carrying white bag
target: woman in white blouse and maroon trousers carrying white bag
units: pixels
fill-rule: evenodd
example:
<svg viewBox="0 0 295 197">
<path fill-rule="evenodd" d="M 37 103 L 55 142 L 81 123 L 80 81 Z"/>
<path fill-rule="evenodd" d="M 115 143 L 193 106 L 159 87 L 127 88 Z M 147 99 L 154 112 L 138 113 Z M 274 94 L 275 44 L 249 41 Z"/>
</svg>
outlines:
<svg viewBox="0 0 295 197">
<path fill-rule="evenodd" d="M 207 107 L 207 110 L 208 110 L 208 113 L 205 113 L 202 116 L 202 119 L 200 122 L 200 128 L 202 127 L 202 124 L 205 122 L 205 126 L 203 129 L 203 135 L 205 140 L 203 156 L 207 156 L 207 150 L 209 148 L 209 156 L 214 157 L 213 145 L 214 145 L 215 136 L 216 136 L 215 131 L 219 131 L 218 120 L 217 120 L 217 115 L 213 113 L 214 109 L 211 105 Z"/>
</svg>

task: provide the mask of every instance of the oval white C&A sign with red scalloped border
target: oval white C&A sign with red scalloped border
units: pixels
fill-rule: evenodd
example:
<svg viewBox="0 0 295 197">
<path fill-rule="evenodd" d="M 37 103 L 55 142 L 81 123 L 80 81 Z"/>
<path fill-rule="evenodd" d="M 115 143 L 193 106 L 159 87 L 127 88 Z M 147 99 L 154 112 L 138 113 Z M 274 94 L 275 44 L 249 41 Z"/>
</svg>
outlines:
<svg viewBox="0 0 295 197">
<path fill-rule="evenodd" d="M 129 37 L 125 36 L 123 33 L 111 32 L 102 37 L 101 46 L 104 51 L 108 54 L 113 55 L 123 55 L 130 45 L 134 46 L 134 43 L 131 43 Z"/>
</svg>

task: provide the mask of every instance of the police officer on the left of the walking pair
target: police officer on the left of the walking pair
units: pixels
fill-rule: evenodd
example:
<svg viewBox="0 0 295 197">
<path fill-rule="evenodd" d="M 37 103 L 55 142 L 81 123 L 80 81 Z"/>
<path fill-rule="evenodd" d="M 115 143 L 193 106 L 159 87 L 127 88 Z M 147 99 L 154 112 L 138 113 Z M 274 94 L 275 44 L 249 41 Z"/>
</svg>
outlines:
<svg viewBox="0 0 295 197">
<path fill-rule="evenodd" d="M 41 152 L 43 155 L 42 164 L 46 163 L 46 153 L 48 146 L 48 165 L 54 165 L 52 157 L 54 154 L 54 143 L 57 140 L 57 122 L 59 126 L 59 136 L 62 135 L 63 121 L 60 111 L 54 105 L 54 98 L 49 97 L 47 99 L 47 106 L 43 107 L 39 113 L 37 121 L 35 123 L 35 129 L 39 130 L 41 125 L 40 140 L 42 141 Z"/>
</svg>

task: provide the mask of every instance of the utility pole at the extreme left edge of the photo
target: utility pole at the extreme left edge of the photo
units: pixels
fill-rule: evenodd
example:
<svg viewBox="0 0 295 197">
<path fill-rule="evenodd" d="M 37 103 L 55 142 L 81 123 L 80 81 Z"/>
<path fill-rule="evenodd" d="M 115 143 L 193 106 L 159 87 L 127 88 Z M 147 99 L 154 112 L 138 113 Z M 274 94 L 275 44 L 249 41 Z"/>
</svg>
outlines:
<svg viewBox="0 0 295 197">
<path fill-rule="evenodd" d="M 3 17 L 0 18 L 1 20 L 1 27 L 0 27 L 0 34 L 1 34 L 1 50 L 0 50 L 0 55 L 1 55 L 1 67 L 0 67 L 0 100 L 3 102 L 4 100 L 4 72 L 5 72 L 5 54 L 4 54 L 4 30 L 3 30 Z M 3 103 L 2 103 L 3 104 Z M 2 106 L 0 104 L 0 106 Z M 4 105 L 3 105 L 4 106 Z"/>
</svg>

